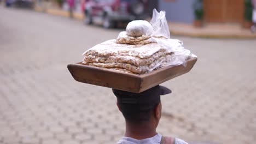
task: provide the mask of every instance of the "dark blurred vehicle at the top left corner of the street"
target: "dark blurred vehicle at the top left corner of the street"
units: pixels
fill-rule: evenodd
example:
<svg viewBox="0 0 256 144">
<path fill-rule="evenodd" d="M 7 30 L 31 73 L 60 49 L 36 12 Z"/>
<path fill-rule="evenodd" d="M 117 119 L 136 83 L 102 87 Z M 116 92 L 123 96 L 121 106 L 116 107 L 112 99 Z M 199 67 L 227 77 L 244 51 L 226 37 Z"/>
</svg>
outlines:
<svg viewBox="0 0 256 144">
<path fill-rule="evenodd" d="M 5 6 L 10 7 L 11 5 L 16 5 L 18 7 L 34 7 L 34 0 L 5 0 Z"/>
</svg>

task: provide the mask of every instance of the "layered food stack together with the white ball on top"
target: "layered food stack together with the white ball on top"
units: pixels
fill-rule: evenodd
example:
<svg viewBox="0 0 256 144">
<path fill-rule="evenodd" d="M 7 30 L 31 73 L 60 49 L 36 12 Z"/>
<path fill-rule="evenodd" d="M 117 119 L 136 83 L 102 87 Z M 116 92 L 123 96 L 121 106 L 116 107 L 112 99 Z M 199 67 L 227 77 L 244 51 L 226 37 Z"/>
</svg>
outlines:
<svg viewBox="0 0 256 144">
<path fill-rule="evenodd" d="M 178 59 L 175 52 L 155 39 L 183 48 L 182 41 L 152 35 L 153 32 L 154 28 L 149 22 L 132 21 L 117 39 L 105 41 L 85 51 L 83 63 L 126 73 L 144 74 L 176 62 Z M 190 56 L 190 51 L 187 51 L 183 58 Z"/>
</svg>

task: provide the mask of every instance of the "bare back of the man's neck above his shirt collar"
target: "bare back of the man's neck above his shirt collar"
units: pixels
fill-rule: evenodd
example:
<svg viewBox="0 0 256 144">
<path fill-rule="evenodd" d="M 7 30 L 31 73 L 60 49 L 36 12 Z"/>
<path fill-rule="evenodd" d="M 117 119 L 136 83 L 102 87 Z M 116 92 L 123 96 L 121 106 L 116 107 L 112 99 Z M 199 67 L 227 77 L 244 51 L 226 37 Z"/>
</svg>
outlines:
<svg viewBox="0 0 256 144">
<path fill-rule="evenodd" d="M 141 124 L 132 124 L 129 122 L 125 123 L 126 130 L 125 130 L 125 136 L 126 137 L 132 137 L 133 139 L 142 140 L 147 139 L 149 137 L 153 137 L 157 135 L 156 133 L 156 127 L 154 127 L 153 124 L 150 124 L 150 122 L 141 123 Z"/>
</svg>

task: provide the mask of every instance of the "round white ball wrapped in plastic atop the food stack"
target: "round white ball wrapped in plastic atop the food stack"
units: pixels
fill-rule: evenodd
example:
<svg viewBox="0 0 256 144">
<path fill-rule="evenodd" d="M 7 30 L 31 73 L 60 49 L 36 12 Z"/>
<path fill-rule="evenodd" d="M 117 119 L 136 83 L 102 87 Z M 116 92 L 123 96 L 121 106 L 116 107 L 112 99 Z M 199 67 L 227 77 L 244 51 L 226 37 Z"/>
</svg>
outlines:
<svg viewBox="0 0 256 144">
<path fill-rule="evenodd" d="M 126 34 L 132 37 L 141 37 L 153 33 L 153 26 L 144 20 L 135 20 L 128 23 Z"/>
</svg>

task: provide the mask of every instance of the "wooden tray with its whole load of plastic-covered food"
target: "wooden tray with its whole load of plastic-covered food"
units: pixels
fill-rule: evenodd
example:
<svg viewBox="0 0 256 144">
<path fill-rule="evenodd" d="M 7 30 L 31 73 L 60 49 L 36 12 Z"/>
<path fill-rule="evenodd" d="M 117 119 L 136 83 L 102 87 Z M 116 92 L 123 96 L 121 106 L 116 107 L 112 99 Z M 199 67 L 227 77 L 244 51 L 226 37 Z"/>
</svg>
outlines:
<svg viewBox="0 0 256 144">
<path fill-rule="evenodd" d="M 83 56 L 83 62 L 68 65 L 75 80 L 133 93 L 188 73 L 197 61 L 181 40 L 171 39 L 165 11 L 155 9 L 150 22 L 130 22 L 117 39 L 97 44 Z"/>
</svg>

